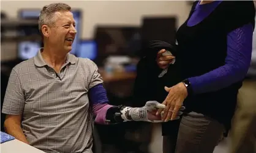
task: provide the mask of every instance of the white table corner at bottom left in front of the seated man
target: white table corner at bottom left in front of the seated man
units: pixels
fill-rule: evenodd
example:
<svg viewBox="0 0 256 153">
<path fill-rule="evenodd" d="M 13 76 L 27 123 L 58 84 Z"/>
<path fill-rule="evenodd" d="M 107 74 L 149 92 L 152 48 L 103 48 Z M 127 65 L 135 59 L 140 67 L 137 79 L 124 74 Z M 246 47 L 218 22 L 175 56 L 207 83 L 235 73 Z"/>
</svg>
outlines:
<svg viewBox="0 0 256 153">
<path fill-rule="evenodd" d="M 1 144 L 1 153 L 45 153 L 37 148 L 29 146 L 20 140 L 7 141 Z"/>
</svg>

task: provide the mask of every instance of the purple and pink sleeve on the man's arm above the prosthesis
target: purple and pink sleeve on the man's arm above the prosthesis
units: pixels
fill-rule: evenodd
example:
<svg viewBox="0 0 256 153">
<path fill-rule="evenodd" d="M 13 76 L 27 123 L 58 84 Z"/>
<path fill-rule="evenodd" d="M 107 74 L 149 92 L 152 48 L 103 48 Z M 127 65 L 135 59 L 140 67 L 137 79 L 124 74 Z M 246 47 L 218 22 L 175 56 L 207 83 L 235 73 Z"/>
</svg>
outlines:
<svg viewBox="0 0 256 153">
<path fill-rule="evenodd" d="M 106 113 L 112 107 L 108 104 L 107 91 L 102 84 L 98 84 L 89 90 L 89 99 L 92 104 L 92 112 L 97 124 L 107 124 Z"/>
</svg>

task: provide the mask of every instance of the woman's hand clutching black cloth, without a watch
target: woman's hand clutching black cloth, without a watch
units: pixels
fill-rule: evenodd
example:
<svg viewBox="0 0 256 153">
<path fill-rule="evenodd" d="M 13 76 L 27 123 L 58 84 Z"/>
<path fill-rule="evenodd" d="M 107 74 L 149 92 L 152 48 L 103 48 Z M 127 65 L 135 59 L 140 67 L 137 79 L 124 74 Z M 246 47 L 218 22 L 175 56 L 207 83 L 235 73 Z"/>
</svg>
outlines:
<svg viewBox="0 0 256 153">
<path fill-rule="evenodd" d="M 162 55 L 164 52 L 166 52 L 165 49 L 161 49 L 159 52 L 157 52 L 156 62 L 159 68 L 165 69 L 168 68 L 171 62 L 173 62 L 173 59 L 175 59 L 172 55 Z"/>
</svg>

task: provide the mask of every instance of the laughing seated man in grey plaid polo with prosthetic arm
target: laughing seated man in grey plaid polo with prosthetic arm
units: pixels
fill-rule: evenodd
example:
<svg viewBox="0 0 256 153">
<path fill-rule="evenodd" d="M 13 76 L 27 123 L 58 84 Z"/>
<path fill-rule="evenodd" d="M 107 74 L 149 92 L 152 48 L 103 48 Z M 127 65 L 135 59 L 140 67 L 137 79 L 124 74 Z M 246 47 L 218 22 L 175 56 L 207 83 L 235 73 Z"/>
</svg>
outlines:
<svg viewBox="0 0 256 153">
<path fill-rule="evenodd" d="M 77 33 L 70 10 L 63 3 L 41 10 L 43 48 L 12 69 L 2 113 L 7 114 L 6 132 L 35 148 L 91 153 L 93 121 L 160 121 L 154 111 L 165 105 L 156 101 L 140 108 L 109 105 L 96 64 L 69 54 Z"/>
</svg>

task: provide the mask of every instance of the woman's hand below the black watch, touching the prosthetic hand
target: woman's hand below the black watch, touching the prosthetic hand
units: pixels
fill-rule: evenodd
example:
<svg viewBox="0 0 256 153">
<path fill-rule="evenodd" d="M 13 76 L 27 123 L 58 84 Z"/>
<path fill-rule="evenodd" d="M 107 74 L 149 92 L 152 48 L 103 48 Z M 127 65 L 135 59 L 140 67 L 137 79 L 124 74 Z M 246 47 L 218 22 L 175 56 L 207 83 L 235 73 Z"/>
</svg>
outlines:
<svg viewBox="0 0 256 153">
<path fill-rule="evenodd" d="M 166 105 L 164 115 L 162 116 L 162 121 L 175 119 L 179 109 L 183 105 L 184 99 L 187 98 L 187 88 L 183 82 L 180 82 L 171 88 L 165 87 L 165 91 L 168 92 L 168 96 L 162 103 Z M 159 109 L 156 115 L 159 115 L 162 111 L 163 109 Z"/>
</svg>

